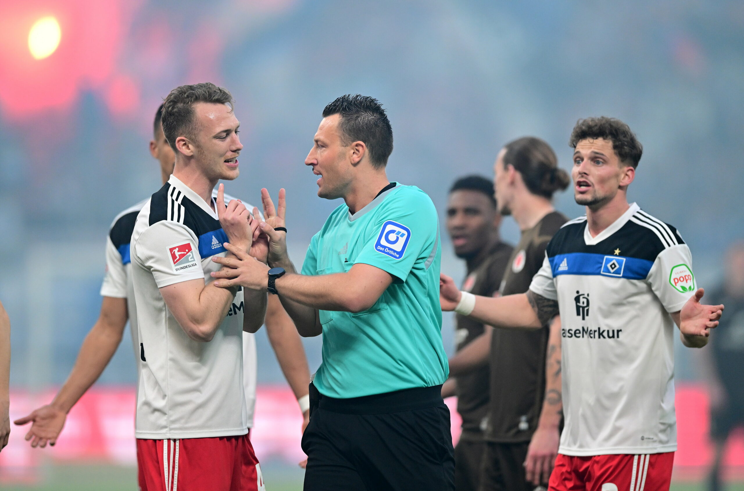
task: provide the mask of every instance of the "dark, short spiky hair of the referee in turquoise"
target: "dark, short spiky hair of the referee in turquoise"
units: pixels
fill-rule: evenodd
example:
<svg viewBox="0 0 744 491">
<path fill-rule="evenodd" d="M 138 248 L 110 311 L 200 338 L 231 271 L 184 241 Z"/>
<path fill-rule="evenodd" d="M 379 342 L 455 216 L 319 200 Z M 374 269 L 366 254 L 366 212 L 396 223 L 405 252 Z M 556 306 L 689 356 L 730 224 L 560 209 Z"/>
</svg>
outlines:
<svg viewBox="0 0 744 491">
<path fill-rule="evenodd" d="M 355 141 L 364 142 L 370 163 L 384 167 L 393 152 L 393 129 L 388 115 L 379 101 L 359 94 L 346 94 L 334 100 L 323 110 L 323 117 L 340 114 L 341 143 L 349 146 Z"/>
</svg>

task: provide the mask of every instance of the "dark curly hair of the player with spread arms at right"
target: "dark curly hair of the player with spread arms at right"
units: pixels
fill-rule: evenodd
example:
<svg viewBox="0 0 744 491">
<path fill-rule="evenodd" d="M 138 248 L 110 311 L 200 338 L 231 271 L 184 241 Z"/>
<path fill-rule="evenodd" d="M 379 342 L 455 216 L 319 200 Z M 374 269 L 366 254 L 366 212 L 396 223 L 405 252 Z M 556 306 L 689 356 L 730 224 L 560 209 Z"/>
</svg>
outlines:
<svg viewBox="0 0 744 491">
<path fill-rule="evenodd" d="M 571 131 L 571 140 L 568 140 L 568 145 L 575 149 L 581 140 L 599 138 L 612 142 L 612 149 L 623 163 L 632 166 L 633 169 L 638 167 L 644 147 L 630 130 L 630 126 L 614 117 L 600 116 L 578 120 L 574 131 Z"/>
</svg>

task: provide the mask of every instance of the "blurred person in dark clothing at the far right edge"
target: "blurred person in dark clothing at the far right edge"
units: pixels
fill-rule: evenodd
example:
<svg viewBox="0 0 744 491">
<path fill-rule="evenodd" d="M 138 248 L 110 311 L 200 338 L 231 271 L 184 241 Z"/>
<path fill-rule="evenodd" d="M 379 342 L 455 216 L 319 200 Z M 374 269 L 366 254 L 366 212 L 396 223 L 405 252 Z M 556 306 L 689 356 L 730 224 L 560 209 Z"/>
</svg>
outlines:
<svg viewBox="0 0 744 491">
<path fill-rule="evenodd" d="M 725 280 L 711 298 L 722 300 L 726 316 L 711 338 L 711 349 L 701 350 L 703 373 L 711 396 L 711 440 L 713 466 L 708 491 L 721 491 L 721 464 L 726 441 L 744 427 L 744 242 L 728 250 Z"/>
</svg>

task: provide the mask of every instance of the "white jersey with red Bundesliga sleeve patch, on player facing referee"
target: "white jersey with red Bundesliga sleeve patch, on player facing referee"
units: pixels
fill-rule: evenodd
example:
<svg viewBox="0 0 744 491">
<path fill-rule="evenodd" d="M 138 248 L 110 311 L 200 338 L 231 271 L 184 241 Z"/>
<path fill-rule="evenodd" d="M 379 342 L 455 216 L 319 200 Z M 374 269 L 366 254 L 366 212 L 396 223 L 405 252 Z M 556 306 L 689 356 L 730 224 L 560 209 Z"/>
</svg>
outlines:
<svg viewBox="0 0 744 491">
<path fill-rule="evenodd" d="M 137 438 L 209 438 L 248 432 L 243 291 L 235 296 L 214 338 L 197 342 L 176 322 L 159 290 L 191 279 L 211 282 L 209 273 L 221 267 L 211 258 L 225 256 L 226 239 L 217 213 L 173 175 L 137 217 L 130 247 L 141 343 Z M 246 345 L 254 354 L 252 339 Z M 249 360 L 251 366 L 254 360 L 254 356 Z M 252 404 L 255 395 L 251 396 Z"/>
</svg>

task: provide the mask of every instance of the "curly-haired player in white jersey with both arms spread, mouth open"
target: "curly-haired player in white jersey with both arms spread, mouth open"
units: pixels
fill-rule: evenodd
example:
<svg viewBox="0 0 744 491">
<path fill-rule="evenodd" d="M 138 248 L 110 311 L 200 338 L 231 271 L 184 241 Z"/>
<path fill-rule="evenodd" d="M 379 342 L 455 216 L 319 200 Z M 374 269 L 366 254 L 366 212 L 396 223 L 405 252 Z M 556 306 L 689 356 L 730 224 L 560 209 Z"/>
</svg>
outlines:
<svg viewBox="0 0 744 491">
<path fill-rule="evenodd" d="M 669 224 L 629 204 L 641 144 L 620 120 L 571 134 L 574 197 L 586 216 L 548 244 L 527 293 L 493 299 L 443 281 L 443 308 L 504 328 L 560 313 L 565 426 L 550 490 L 667 490 L 676 421 L 673 325 L 702 347 L 723 305 L 702 305 L 690 249 Z"/>
</svg>

